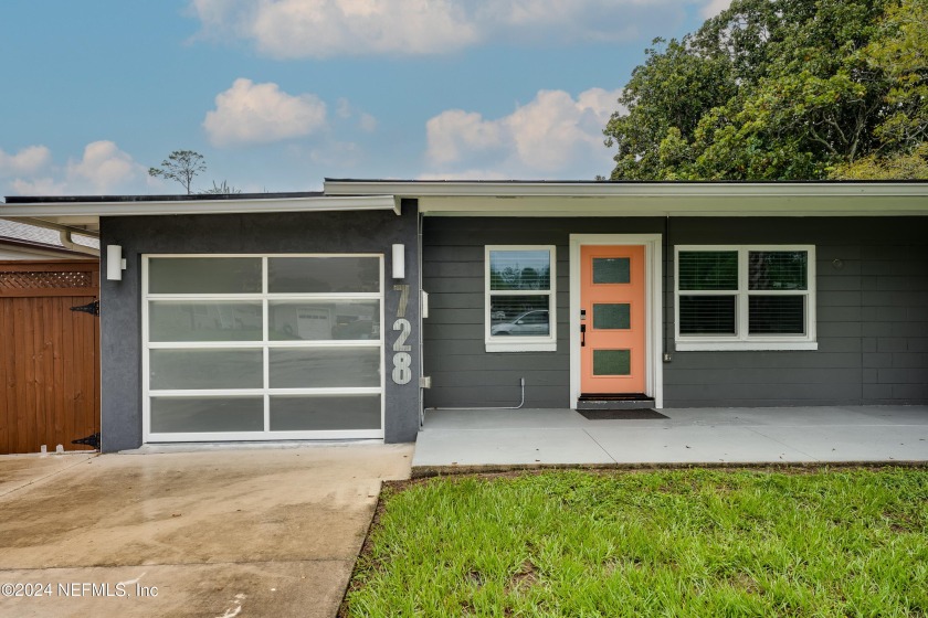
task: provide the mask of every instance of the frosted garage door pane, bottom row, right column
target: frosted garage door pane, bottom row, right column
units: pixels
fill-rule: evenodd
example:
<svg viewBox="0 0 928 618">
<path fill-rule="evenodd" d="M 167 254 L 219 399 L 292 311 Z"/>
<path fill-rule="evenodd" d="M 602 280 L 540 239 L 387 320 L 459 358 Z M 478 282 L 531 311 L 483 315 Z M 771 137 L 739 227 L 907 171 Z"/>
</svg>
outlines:
<svg viewBox="0 0 928 618">
<path fill-rule="evenodd" d="M 380 395 L 271 397 L 272 431 L 379 428 Z"/>
</svg>

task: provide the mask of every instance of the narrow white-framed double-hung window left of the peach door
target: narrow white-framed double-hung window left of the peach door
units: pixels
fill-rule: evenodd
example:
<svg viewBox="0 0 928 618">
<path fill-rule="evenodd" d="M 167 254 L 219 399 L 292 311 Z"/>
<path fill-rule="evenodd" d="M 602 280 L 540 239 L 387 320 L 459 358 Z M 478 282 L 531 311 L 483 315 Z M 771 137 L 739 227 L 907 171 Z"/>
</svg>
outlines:
<svg viewBox="0 0 928 618">
<path fill-rule="evenodd" d="M 487 245 L 485 268 L 486 351 L 556 350 L 555 247 Z"/>
</svg>

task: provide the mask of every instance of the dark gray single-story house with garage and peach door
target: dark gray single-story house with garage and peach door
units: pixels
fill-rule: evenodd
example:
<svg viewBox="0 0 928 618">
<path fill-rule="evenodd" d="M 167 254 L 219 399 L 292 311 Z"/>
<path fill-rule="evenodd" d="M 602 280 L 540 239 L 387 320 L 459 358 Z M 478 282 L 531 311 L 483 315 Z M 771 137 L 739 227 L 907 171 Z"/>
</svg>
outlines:
<svg viewBox="0 0 928 618">
<path fill-rule="evenodd" d="M 329 179 L 0 213 L 99 233 L 107 451 L 411 441 L 435 407 L 928 404 L 926 182 Z"/>
</svg>

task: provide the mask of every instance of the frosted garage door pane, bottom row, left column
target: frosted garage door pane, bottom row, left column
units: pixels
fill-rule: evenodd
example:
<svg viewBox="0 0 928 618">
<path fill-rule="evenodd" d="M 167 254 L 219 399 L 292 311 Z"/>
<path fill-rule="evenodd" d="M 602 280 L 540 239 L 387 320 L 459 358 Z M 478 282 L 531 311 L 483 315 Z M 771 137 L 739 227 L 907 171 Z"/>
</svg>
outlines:
<svg viewBox="0 0 928 618">
<path fill-rule="evenodd" d="M 263 429 L 264 397 L 151 397 L 151 430 L 155 433 Z"/>
</svg>

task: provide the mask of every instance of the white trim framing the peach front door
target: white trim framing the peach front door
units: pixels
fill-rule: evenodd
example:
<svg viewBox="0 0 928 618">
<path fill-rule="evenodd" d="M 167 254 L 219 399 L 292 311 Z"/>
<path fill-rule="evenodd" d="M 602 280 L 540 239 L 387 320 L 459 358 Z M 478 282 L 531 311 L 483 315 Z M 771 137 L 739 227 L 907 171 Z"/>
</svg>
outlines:
<svg viewBox="0 0 928 618">
<path fill-rule="evenodd" d="M 662 356 L 663 244 L 661 234 L 571 234 L 570 235 L 570 407 L 580 398 L 580 246 L 643 245 L 645 298 L 647 299 L 646 390 L 655 407 L 664 407 L 664 364 Z"/>
</svg>

